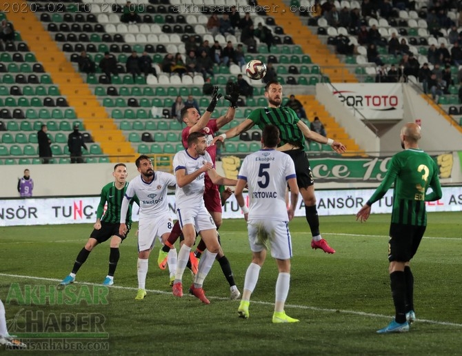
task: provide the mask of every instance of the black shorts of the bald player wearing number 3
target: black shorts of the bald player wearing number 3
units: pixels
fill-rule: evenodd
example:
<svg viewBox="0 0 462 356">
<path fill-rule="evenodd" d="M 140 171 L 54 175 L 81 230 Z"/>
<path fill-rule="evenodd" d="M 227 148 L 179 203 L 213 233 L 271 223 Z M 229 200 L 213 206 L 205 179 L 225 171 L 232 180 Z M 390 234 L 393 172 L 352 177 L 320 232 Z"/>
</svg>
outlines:
<svg viewBox="0 0 462 356">
<path fill-rule="evenodd" d="M 426 227 L 392 223 L 388 241 L 388 261 L 410 261 L 419 248 Z"/>
</svg>

